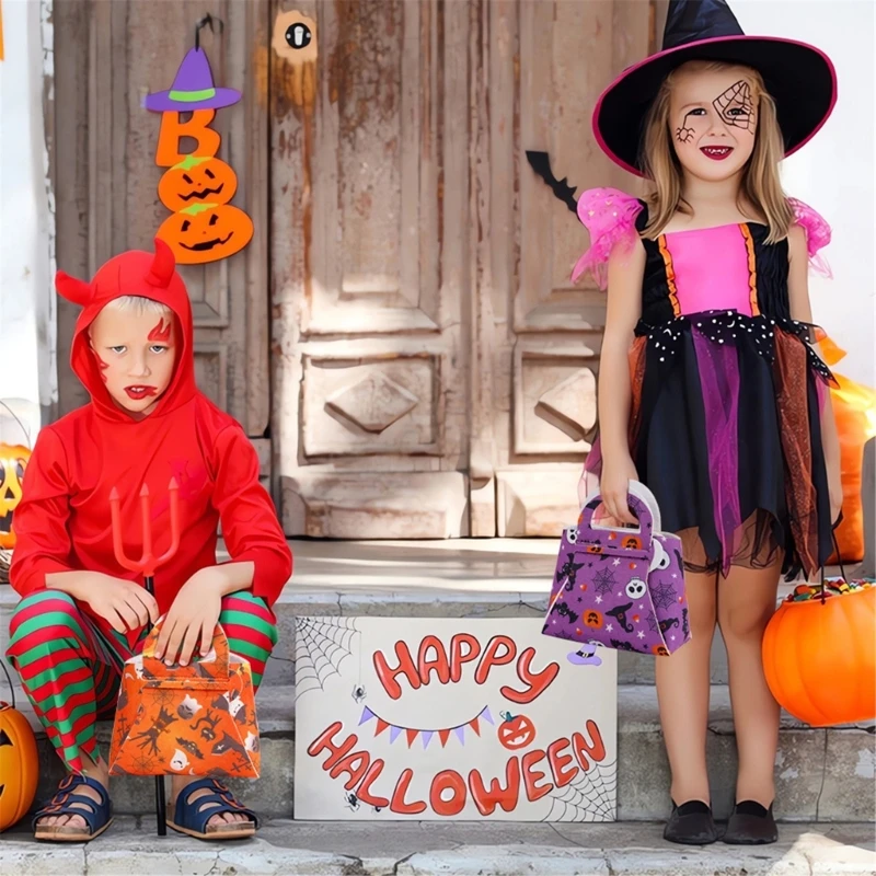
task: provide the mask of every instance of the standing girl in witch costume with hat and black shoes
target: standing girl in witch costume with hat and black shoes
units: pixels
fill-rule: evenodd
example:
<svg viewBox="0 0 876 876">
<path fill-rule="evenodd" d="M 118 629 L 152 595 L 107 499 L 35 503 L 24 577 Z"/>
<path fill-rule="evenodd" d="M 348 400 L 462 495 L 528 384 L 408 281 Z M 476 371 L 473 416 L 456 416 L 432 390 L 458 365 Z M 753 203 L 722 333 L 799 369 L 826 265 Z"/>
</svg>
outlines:
<svg viewBox="0 0 876 876">
<path fill-rule="evenodd" d="M 653 184 L 644 200 L 581 195 L 590 249 L 573 277 L 608 285 L 600 441 L 586 469 L 624 523 L 629 482 L 647 484 L 684 548 L 692 641 L 656 665 L 675 842 L 717 839 L 705 760 L 716 623 L 739 751 L 724 841 L 776 840 L 779 706 L 761 638 L 782 570 L 827 562 L 841 504 L 832 377 L 807 290 L 830 229 L 785 196 L 779 162 L 834 101 L 819 49 L 745 36 L 723 0 L 670 0 L 664 49 L 593 113 L 603 151 Z"/>
</svg>

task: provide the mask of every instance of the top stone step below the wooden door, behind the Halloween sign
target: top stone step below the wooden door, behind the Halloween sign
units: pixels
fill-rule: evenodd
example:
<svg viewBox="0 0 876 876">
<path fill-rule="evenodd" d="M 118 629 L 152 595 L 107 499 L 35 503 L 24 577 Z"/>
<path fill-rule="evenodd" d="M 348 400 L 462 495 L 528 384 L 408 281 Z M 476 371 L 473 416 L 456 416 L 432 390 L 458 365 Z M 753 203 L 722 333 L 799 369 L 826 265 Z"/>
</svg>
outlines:
<svg viewBox="0 0 876 876">
<path fill-rule="evenodd" d="M 552 539 L 435 542 L 293 541 L 295 573 L 275 606 L 280 641 L 265 684 L 295 683 L 296 615 L 393 618 L 538 618 L 548 610 L 556 561 Z M 782 585 L 781 595 L 789 589 Z M 19 600 L 0 586 L 0 645 Z M 621 652 L 621 684 L 653 684 L 654 659 Z M 712 681 L 727 683 L 716 631 Z"/>
</svg>

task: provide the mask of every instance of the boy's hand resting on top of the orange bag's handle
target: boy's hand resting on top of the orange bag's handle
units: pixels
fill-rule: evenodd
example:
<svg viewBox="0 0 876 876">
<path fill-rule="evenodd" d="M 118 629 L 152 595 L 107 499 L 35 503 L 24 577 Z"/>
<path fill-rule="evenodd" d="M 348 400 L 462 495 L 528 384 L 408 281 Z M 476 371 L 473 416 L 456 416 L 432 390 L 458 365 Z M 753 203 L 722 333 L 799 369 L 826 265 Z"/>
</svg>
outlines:
<svg viewBox="0 0 876 876">
<path fill-rule="evenodd" d="M 200 656 L 206 657 L 222 610 L 222 584 L 214 567 L 196 572 L 173 600 L 161 623 L 155 659 L 168 666 L 187 666 L 200 641 Z"/>
</svg>

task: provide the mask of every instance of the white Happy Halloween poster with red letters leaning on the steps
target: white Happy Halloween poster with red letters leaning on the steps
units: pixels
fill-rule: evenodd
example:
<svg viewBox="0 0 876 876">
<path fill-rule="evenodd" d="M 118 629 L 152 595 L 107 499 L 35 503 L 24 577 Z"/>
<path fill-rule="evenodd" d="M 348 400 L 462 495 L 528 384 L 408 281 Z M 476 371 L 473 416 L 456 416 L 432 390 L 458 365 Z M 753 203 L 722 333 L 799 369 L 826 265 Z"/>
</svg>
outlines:
<svg viewBox="0 0 876 876">
<path fill-rule="evenodd" d="M 296 619 L 295 817 L 614 820 L 616 655 L 540 630 Z"/>
</svg>

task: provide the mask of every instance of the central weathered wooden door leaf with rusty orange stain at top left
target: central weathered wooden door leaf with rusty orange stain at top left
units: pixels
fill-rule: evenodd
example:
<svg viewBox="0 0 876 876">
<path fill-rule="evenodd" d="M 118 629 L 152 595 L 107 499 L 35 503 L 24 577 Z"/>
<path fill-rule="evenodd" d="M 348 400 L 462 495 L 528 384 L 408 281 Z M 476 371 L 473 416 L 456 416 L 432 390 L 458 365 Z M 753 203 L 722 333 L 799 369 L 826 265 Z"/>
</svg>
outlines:
<svg viewBox="0 0 876 876">
<path fill-rule="evenodd" d="M 315 60 L 283 49 L 285 8 L 270 68 L 284 526 L 466 535 L 471 7 L 297 4 Z"/>
</svg>

